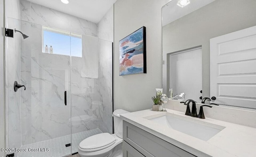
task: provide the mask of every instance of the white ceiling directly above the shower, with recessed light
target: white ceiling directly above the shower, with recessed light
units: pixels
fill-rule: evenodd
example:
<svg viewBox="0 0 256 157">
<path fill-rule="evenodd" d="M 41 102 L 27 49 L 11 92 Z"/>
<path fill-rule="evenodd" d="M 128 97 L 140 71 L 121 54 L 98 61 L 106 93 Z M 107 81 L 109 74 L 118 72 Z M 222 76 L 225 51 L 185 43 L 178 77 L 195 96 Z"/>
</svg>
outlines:
<svg viewBox="0 0 256 157">
<path fill-rule="evenodd" d="M 69 0 L 68 4 L 60 0 L 28 0 L 66 14 L 98 23 L 116 0 Z"/>
</svg>

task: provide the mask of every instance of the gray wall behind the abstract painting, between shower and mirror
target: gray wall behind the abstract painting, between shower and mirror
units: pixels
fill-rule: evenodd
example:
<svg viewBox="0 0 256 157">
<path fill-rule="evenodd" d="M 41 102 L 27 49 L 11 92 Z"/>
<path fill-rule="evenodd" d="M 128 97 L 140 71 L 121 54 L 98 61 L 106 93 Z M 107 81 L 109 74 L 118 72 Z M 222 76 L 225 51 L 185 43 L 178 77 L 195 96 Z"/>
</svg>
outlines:
<svg viewBox="0 0 256 157">
<path fill-rule="evenodd" d="M 152 107 L 162 87 L 161 8 L 170 0 L 117 0 L 114 4 L 114 108 L 138 111 Z M 146 27 L 147 74 L 119 76 L 119 41 Z"/>
</svg>

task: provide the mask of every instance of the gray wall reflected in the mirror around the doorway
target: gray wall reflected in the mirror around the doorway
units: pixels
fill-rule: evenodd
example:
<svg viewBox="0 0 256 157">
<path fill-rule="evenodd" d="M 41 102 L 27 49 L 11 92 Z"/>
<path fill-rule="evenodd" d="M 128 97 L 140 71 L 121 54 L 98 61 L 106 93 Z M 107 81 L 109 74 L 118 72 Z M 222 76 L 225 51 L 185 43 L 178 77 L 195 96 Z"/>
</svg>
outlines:
<svg viewBox="0 0 256 157">
<path fill-rule="evenodd" d="M 255 6 L 255 0 L 216 0 L 164 26 L 163 60 L 167 53 L 202 45 L 203 97 L 210 96 L 210 38 L 255 26 Z"/>
</svg>

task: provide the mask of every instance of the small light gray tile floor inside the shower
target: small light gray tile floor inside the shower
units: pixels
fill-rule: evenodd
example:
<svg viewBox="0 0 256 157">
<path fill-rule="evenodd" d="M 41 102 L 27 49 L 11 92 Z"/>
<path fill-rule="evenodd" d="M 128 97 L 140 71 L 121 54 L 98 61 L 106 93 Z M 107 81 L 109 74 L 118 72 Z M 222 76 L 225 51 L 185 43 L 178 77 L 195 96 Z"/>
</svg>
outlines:
<svg viewBox="0 0 256 157">
<path fill-rule="evenodd" d="M 92 135 L 96 135 L 98 133 L 102 133 L 100 129 L 92 129 L 89 131 L 83 131 L 80 133 L 72 134 L 72 146 L 66 147 L 66 144 L 71 143 L 71 135 L 66 135 L 62 137 L 57 137 L 54 139 L 41 141 L 37 143 L 32 143 L 30 145 L 23 145 L 21 149 L 38 149 L 38 148 L 49 148 L 50 151 L 28 151 L 28 152 L 20 152 L 18 153 L 18 157 L 66 157 L 72 153 L 78 152 L 79 143 L 90 137 Z M 72 151 L 72 153 L 71 153 Z M 80 157 L 78 154 L 75 154 L 70 157 Z"/>
</svg>

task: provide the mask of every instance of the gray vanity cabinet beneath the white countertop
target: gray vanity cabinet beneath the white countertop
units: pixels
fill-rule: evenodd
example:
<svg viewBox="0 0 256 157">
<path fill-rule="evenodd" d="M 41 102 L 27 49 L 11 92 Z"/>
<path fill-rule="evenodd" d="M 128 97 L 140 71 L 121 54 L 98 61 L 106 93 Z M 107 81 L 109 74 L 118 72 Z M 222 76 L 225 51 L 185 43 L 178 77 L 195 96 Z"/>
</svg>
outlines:
<svg viewBox="0 0 256 157">
<path fill-rule="evenodd" d="M 126 121 L 123 139 L 123 157 L 195 157 Z"/>
</svg>

